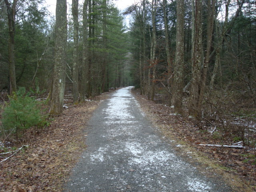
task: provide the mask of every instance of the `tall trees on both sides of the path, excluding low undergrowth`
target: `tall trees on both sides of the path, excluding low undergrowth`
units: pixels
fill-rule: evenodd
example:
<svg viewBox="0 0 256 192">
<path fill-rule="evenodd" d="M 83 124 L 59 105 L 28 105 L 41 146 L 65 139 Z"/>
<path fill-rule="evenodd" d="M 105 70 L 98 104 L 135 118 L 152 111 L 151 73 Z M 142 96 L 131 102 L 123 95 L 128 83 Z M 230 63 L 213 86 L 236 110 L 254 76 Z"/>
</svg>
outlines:
<svg viewBox="0 0 256 192">
<path fill-rule="evenodd" d="M 218 96 L 227 91 L 226 98 L 255 105 L 256 14 L 251 0 L 141 0 L 124 13 L 133 18 L 129 30 L 110 1 L 73 0 L 73 20 L 62 31 L 68 40 L 58 35 L 57 20 L 46 19 L 40 3 L 0 2 L 1 90 L 11 93 L 15 84 L 51 88 L 55 97 L 64 95 L 66 84 L 77 104 L 110 87 L 135 84 L 149 99 L 162 94 L 176 112 L 188 112 L 198 122 L 220 111 Z M 64 42 L 68 48 L 60 58 Z M 62 102 L 58 98 L 56 114 Z"/>
</svg>

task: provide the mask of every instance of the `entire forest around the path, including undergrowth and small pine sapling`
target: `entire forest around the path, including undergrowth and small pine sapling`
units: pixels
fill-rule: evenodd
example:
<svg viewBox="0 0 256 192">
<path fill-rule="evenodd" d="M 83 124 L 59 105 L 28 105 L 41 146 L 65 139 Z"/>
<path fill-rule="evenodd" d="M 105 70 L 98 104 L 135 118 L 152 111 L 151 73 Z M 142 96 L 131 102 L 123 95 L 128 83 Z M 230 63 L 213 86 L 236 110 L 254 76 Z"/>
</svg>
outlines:
<svg viewBox="0 0 256 192">
<path fill-rule="evenodd" d="M 124 11 L 112 0 L 57 0 L 56 16 L 44 5 L 0 1 L 4 140 L 48 125 L 42 116 L 63 114 L 67 95 L 76 106 L 134 86 L 200 131 L 255 152 L 255 0 L 137 0 Z"/>
</svg>

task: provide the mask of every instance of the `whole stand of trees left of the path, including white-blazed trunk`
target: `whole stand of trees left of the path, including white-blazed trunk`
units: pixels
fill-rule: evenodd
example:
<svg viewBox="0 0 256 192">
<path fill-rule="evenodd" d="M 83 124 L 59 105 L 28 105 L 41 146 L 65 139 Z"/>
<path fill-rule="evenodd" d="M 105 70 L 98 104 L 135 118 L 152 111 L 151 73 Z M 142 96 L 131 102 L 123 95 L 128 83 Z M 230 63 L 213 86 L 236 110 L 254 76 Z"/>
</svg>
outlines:
<svg viewBox="0 0 256 192">
<path fill-rule="evenodd" d="M 73 20 L 68 22 L 66 1 L 57 1 L 56 20 L 46 18 L 46 9 L 38 8 L 41 3 L 0 2 L 1 90 L 15 92 L 16 84 L 48 89 L 51 114 L 60 114 L 65 84 L 69 89 L 72 83 L 73 102 L 78 104 L 132 83 L 123 18 L 111 2 L 85 0 L 79 5 L 73 0 Z"/>
</svg>

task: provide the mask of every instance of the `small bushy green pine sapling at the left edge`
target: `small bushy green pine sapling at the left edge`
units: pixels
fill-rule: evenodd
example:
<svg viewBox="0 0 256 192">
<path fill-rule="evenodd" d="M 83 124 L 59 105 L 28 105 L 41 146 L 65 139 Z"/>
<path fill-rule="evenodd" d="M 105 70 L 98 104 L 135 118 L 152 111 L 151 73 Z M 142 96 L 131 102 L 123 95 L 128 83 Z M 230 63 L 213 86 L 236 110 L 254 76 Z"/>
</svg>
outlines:
<svg viewBox="0 0 256 192">
<path fill-rule="evenodd" d="M 26 93 L 24 87 L 10 98 L 2 114 L 3 135 L 16 135 L 16 140 L 25 139 L 26 130 L 42 121 L 40 106 L 35 98 Z"/>
</svg>

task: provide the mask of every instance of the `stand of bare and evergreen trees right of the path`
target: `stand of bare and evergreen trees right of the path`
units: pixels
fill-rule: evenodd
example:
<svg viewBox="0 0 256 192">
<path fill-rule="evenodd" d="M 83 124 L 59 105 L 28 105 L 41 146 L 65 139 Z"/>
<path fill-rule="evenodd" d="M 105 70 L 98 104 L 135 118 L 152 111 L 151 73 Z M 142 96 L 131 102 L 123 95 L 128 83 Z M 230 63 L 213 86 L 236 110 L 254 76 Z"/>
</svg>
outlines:
<svg viewBox="0 0 256 192">
<path fill-rule="evenodd" d="M 126 14 L 133 16 L 130 50 L 142 94 L 168 98 L 166 104 L 171 101 L 176 112 L 190 114 L 198 124 L 230 114 L 220 103 L 232 105 L 232 111 L 239 110 L 237 103 L 255 107 L 252 1 L 141 0 Z"/>
</svg>

